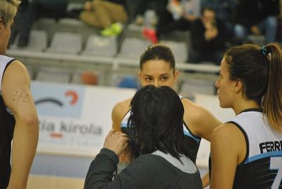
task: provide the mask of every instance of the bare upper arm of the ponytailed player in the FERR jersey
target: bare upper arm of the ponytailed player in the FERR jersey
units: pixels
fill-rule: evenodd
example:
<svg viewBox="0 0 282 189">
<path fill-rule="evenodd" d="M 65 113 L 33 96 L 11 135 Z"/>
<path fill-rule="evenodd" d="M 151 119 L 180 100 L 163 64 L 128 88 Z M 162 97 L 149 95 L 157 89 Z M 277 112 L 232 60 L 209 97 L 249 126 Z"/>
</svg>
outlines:
<svg viewBox="0 0 282 189">
<path fill-rule="evenodd" d="M 210 188 L 233 188 L 236 167 L 246 154 L 243 133 L 231 123 L 223 124 L 212 133 L 211 151 Z"/>
</svg>

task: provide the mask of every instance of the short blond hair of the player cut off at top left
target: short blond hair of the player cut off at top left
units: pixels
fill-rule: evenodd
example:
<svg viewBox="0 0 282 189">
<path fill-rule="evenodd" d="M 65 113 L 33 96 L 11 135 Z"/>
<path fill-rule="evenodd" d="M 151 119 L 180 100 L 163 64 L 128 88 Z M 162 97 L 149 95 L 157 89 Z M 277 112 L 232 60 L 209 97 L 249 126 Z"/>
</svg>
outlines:
<svg viewBox="0 0 282 189">
<path fill-rule="evenodd" d="M 19 0 L 0 0 L 0 18 L 4 25 L 13 20 L 20 5 Z"/>
</svg>

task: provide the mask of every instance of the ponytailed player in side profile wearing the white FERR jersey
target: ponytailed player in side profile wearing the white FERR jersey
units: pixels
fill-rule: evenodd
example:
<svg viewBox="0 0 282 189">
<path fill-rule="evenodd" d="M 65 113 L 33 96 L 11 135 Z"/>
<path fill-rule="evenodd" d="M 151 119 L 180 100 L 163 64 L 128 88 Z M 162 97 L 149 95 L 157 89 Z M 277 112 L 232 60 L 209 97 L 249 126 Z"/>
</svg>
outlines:
<svg viewBox="0 0 282 189">
<path fill-rule="evenodd" d="M 244 44 L 223 56 L 220 106 L 235 118 L 212 133 L 210 188 L 282 188 L 282 51 Z"/>
</svg>

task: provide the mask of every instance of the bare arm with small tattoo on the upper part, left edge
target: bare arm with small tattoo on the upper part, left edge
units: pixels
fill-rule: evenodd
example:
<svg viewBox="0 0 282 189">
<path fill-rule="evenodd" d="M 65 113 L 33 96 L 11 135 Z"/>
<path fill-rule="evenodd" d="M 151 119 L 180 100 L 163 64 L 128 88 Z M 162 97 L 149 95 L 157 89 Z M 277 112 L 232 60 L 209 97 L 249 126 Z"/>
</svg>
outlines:
<svg viewBox="0 0 282 189">
<path fill-rule="evenodd" d="M 20 61 L 6 69 L 1 86 L 5 104 L 16 119 L 11 178 L 8 188 L 26 188 L 38 141 L 38 118 L 30 93 L 30 78 Z"/>
</svg>

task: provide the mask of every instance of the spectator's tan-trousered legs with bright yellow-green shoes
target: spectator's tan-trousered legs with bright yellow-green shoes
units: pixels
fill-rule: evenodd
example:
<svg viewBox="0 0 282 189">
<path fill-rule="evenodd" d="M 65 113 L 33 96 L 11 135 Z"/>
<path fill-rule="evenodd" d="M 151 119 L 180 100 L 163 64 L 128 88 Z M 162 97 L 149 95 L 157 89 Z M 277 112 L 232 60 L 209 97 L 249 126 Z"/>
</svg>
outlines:
<svg viewBox="0 0 282 189">
<path fill-rule="evenodd" d="M 84 11 L 80 13 L 80 20 L 102 29 L 102 35 L 118 35 L 121 24 L 128 20 L 124 0 L 92 0 L 86 1 Z"/>
</svg>

